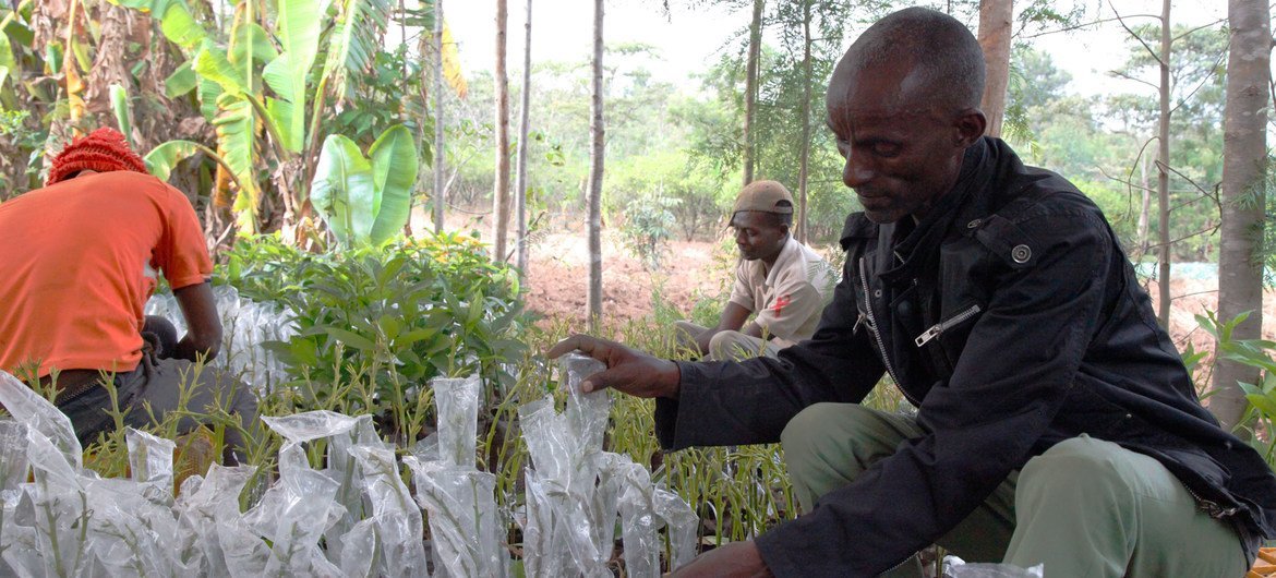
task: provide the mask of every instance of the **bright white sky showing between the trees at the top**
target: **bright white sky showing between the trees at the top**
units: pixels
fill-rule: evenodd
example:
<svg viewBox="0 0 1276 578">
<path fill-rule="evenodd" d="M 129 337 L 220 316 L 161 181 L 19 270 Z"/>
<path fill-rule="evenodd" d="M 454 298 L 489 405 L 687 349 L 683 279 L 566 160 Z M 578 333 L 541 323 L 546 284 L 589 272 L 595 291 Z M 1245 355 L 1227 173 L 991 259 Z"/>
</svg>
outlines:
<svg viewBox="0 0 1276 578">
<path fill-rule="evenodd" d="M 775 0 L 773 0 L 775 1 Z M 1094 11 L 1095 3 L 1087 4 Z M 490 70 L 495 59 L 495 0 L 444 0 L 443 13 L 458 41 L 461 60 L 467 71 Z M 661 9 L 661 0 L 607 0 L 604 37 L 607 43 L 644 42 L 660 48 L 665 65 L 652 70 L 657 78 L 681 85 L 695 85 L 692 73 L 702 71 L 716 61 L 723 43 L 734 33 L 749 24 L 748 10 L 735 13 L 720 8 L 695 11 L 671 9 L 669 18 Z M 1017 4 L 1025 4 L 1020 1 Z M 1114 6 L 1127 17 L 1132 27 L 1155 22 L 1146 15 L 1160 15 L 1159 0 L 1108 0 L 1100 13 L 1088 19 L 1110 20 Z M 533 0 L 532 60 L 581 61 L 592 50 L 593 3 L 590 0 Z M 523 26 L 527 4 L 509 0 L 508 70 L 517 78 L 523 61 Z M 1143 15 L 1143 17 L 1139 17 Z M 1226 18 L 1226 3 L 1221 0 L 1174 0 L 1171 22 L 1205 24 Z M 1116 22 L 1105 22 L 1087 31 L 1051 33 L 1032 40 L 1046 50 L 1055 65 L 1069 71 L 1069 87 L 1079 93 L 1101 93 L 1122 87 L 1122 82 L 1106 74 L 1120 64 L 1125 55 L 1125 33 Z M 1131 87 L 1127 91 L 1138 88 Z"/>
</svg>

